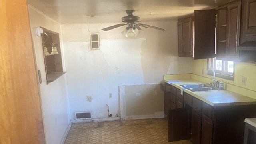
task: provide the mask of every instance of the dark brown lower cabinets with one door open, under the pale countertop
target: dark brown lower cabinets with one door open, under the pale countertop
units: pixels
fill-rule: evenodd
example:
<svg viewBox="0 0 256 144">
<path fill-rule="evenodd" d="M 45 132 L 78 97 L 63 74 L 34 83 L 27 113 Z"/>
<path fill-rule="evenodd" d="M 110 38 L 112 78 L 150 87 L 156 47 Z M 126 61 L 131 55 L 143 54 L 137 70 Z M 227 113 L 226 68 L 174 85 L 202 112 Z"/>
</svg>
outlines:
<svg viewBox="0 0 256 144">
<path fill-rule="evenodd" d="M 183 108 L 168 111 L 168 142 L 190 139 L 193 144 L 242 144 L 244 119 L 256 117 L 256 105 L 210 106 L 183 93 Z M 183 100 L 182 100 L 183 101 Z"/>
</svg>

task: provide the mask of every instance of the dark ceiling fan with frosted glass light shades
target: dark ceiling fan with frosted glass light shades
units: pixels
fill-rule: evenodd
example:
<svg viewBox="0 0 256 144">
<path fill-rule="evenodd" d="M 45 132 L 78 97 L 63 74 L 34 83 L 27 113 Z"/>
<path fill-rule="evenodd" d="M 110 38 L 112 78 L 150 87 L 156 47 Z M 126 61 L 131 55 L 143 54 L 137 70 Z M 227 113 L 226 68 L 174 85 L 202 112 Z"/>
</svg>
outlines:
<svg viewBox="0 0 256 144">
<path fill-rule="evenodd" d="M 128 25 L 124 29 L 124 31 L 121 32 L 126 37 L 138 36 L 138 34 L 140 33 L 140 30 L 141 30 L 140 26 L 142 26 L 144 28 L 154 28 L 154 29 L 157 29 L 157 30 L 165 31 L 164 28 L 158 28 L 156 26 L 150 26 L 148 24 L 142 24 L 142 23 L 137 24 L 137 22 L 140 21 L 140 17 L 133 15 L 134 10 L 126 10 L 126 13 L 127 13 L 128 16 L 122 17 L 122 22 L 125 22 L 126 24 L 116 24 L 114 26 L 103 28 L 101 30 L 108 31 L 108 30 L 112 30 L 114 28 L 118 28 L 120 26 Z"/>
</svg>

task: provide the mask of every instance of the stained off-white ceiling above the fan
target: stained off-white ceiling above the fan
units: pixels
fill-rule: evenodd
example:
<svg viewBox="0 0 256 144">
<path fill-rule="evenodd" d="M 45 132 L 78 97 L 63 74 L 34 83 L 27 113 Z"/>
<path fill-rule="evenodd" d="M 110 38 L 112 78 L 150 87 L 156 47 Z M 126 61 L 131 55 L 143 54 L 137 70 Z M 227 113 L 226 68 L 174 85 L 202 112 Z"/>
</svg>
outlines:
<svg viewBox="0 0 256 144">
<path fill-rule="evenodd" d="M 61 24 L 122 23 L 126 10 L 135 10 L 140 21 L 177 20 L 194 10 L 214 8 L 232 0 L 27 0 Z"/>
</svg>

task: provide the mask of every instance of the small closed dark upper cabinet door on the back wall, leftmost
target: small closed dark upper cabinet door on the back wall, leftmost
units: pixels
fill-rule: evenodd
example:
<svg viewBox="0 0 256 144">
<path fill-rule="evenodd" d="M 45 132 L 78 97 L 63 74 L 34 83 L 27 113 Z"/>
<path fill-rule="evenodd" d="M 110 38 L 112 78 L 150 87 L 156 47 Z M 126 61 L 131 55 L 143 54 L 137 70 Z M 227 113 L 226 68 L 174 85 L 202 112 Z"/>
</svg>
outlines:
<svg viewBox="0 0 256 144">
<path fill-rule="evenodd" d="M 178 21 L 178 54 L 180 57 L 192 57 L 192 17 Z"/>
</svg>

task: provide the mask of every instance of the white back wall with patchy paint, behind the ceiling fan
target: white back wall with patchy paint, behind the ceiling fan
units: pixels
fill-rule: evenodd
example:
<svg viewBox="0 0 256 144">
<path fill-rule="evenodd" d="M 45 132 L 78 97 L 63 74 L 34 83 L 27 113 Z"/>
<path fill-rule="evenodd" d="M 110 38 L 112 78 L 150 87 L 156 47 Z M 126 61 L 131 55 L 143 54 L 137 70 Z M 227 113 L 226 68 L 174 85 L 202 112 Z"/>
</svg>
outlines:
<svg viewBox="0 0 256 144">
<path fill-rule="evenodd" d="M 178 57 L 177 22 L 144 23 L 166 31 L 142 28 L 138 37 L 125 38 L 121 34 L 125 26 L 101 30 L 116 23 L 62 25 L 72 119 L 79 111 L 92 111 L 93 118 L 106 118 L 106 104 L 116 116 L 120 113 L 118 86 L 134 86 L 136 93 L 140 84 L 160 83 L 163 74 L 192 72 L 192 58 Z M 99 33 L 100 50 L 90 50 L 90 32 Z M 112 99 L 108 98 L 109 93 Z M 92 100 L 86 101 L 86 96 Z M 163 95 L 156 103 L 164 105 Z"/>
</svg>

